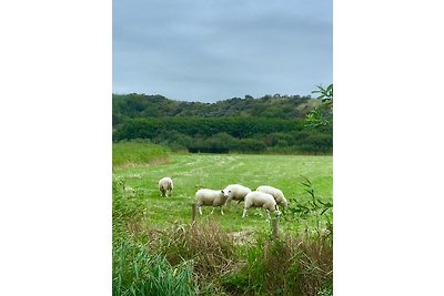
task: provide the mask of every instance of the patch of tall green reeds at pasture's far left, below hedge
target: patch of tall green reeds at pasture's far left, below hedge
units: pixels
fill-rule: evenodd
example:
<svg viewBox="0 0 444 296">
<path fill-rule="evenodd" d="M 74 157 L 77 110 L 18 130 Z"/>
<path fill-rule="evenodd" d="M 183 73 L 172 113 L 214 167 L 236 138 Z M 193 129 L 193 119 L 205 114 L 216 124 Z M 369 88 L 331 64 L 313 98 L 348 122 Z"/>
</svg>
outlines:
<svg viewBox="0 0 444 296">
<path fill-rule="evenodd" d="M 128 166 L 147 163 L 164 163 L 170 160 L 170 149 L 139 142 L 112 144 L 112 166 Z"/>
</svg>

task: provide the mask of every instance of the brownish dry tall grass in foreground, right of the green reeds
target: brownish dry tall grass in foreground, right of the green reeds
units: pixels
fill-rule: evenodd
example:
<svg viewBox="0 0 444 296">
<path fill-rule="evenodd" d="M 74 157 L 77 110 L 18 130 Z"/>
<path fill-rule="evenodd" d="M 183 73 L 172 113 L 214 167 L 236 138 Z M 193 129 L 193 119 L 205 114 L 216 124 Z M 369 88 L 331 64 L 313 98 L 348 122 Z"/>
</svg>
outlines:
<svg viewBox="0 0 444 296">
<path fill-rule="evenodd" d="M 170 266 L 192 263 L 198 295 L 332 295 L 333 239 L 285 233 L 273 238 L 269 229 L 236 244 L 215 221 L 193 226 L 175 223 L 145 228 L 143 244 L 151 256 Z M 115 272 L 119 273 L 118 268 Z M 178 294 L 179 295 L 179 294 Z"/>
</svg>

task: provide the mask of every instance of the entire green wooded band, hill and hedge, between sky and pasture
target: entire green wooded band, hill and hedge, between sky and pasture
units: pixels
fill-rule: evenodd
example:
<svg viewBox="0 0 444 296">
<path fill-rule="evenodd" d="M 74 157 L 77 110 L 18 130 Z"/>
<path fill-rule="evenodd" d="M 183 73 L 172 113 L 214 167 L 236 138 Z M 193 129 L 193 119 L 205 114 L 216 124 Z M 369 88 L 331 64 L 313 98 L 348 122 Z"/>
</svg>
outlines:
<svg viewBox="0 0 444 296">
<path fill-rule="evenodd" d="M 113 141 L 209 153 L 331 153 L 333 85 L 321 96 L 251 95 L 215 103 L 113 94 Z"/>
</svg>

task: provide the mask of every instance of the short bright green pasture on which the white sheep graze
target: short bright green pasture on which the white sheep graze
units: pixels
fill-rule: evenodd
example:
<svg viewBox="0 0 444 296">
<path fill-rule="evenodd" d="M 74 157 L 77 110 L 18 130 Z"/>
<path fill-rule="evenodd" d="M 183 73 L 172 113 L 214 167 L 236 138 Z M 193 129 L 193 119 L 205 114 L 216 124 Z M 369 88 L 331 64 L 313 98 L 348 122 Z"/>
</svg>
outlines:
<svg viewBox="0 0 444 296">
<path fill-rule="evenodd" d="M 287 200 L 294 202 L 309 198 L 301 185 L 306 176 L 313 188 L 324 201 L 332 198 L 332 156 L 295 156 L 295 155 L 235 155 L 235 154 L 174 154 L 172 161 L 152 166 L 133 166 L 115 169 L 114 180 L 124 180 L 128 186 L 143 192 L 145 200 L 145 222 L 168 225 L 174 221 L 189 223 L 190 204 L 198 188 L 223 188 L 231 183 L 240 183 L 254 190 L 269 184 L 280 187 Z M 161 198 L 158 181 L 171 176 L 174 192 L 171 197 Z M 219 220 L 225 229 L 240 231 L 256 227 L 269 227 L 259 214 L 260 210 L 250 211 L 248 218 L 242 220 L 242 204 L 232 203 L 225 208 L 225 215 L 219 211 L 209 215 L 211 207 L 203 208 L 201 220 Z M 282 227 L 293 227 L 282 222 Z"/>
</svg>

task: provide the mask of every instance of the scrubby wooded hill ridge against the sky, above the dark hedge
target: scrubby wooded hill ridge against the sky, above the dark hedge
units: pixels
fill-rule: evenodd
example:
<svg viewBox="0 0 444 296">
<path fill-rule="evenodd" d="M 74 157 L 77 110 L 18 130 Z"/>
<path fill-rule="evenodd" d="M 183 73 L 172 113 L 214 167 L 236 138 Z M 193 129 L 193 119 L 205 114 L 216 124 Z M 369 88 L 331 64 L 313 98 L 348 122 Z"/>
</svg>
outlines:
<svg viewBox="0 0 444 296">
<path fill-rule="evenodd" d="M 254 99 L 251 95 L 232 98 L 215 103 L 182 102 L 162 95 L 113 94 L 112 124 L 123 124 L 139 118 L 224 118 L 260 116 L 280 119 L 303 119 L 319 100 L 310 95 L 281 95 L 279 93 Z"/>
</svg>

